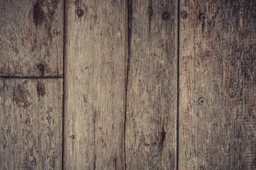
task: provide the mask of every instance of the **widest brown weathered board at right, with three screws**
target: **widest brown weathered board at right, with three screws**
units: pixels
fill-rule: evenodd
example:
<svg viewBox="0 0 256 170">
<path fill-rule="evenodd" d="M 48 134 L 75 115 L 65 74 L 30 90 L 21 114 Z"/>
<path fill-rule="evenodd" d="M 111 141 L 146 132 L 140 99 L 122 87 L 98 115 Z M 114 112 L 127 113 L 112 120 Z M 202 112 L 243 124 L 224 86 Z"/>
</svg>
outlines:
<svg viewBox="0 0 256 170">
<path fill-rule="evenodd" d="M 256 1 L 181 0 L 183 11 L 178 168 L 256 169 Z"/>
</svg>

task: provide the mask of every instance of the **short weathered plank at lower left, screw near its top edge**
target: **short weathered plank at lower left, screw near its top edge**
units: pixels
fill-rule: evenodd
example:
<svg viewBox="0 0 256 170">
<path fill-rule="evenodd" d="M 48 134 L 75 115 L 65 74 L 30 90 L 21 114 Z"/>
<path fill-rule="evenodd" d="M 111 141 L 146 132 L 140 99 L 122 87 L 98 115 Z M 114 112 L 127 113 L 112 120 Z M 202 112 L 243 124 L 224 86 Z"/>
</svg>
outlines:
<svg viewBox="0 0 256 170">
<path fill-rule="evenodd" d="M 62 79 L 0 79 L 1 170 L 61 168 L 62 91 Z"/>
</svg>

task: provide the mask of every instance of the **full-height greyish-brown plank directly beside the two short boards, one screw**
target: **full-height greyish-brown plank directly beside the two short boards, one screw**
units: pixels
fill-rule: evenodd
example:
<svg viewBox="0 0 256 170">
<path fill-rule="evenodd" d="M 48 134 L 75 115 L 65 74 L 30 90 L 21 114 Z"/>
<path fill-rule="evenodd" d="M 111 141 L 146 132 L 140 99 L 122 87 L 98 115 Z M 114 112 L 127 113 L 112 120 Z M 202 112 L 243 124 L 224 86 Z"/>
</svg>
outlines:
<svg viewBox="0 0 256 170">
<path fill-rule="evenodd" d="M 124 169 L 126 7 L 66 2 L 64 169 Z"/>
</svg>

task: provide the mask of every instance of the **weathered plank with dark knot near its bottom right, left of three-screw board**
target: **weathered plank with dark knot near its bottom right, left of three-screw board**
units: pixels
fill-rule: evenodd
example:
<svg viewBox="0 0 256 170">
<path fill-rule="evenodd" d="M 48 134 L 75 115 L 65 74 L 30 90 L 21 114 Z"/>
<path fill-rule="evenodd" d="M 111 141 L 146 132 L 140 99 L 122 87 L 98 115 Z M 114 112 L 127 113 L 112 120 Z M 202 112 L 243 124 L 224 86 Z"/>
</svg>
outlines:
<svg viewBox="0 0 256 170">
<path fill-rule="evenodd" d="M 175 169 L 177 1 L 129 1 L 126 167 Z M 170 13 L 169 20 L 163 14 Z"/>
</svg>

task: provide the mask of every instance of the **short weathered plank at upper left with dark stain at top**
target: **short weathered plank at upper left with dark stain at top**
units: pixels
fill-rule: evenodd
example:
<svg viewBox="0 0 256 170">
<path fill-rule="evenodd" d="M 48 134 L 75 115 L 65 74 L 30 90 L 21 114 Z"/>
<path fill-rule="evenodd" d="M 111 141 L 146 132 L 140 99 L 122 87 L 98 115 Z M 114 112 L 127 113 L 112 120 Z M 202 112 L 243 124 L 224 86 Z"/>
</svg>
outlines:
<svg viewBox="0 0 256 170">
<path fill-rule="evenodd" d="M 62 76 L 63 0 L 1 0 L 0 11 L 0 75 Z"/>
</svg>

